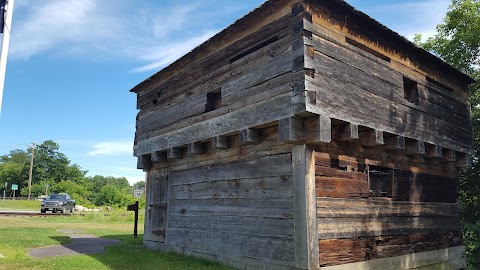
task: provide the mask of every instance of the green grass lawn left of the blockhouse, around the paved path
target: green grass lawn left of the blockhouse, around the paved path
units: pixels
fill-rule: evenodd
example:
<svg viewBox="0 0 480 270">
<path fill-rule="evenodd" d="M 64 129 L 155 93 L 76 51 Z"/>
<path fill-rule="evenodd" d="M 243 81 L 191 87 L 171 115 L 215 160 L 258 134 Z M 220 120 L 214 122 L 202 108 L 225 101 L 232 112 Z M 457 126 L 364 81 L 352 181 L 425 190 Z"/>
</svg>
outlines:
<svg viewBox="0 0 480 270">
<path fill-rule="evenodd" d="M 0 216 L 0 269 L 228 269 L 202 259 L 149 250 L 142 245 L 143 224 L 139 237 L 133 237 L 132 212 L 75 213 L 58 217 Z M 118 239 L 121 244 L 94 255 L 76 255 L 34 259 L 32 247 L 70 242 L 60 229 L 78 229 L 99 237 Z"/>
</svg>

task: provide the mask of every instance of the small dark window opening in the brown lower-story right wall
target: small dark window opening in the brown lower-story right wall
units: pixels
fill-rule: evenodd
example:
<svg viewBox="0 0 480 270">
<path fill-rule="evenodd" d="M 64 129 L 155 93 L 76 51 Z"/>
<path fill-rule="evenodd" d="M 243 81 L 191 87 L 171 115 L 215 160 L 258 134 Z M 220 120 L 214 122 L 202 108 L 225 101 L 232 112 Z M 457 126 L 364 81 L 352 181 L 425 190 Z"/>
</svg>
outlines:
<svg viewBox="0 0 480 270">
<path fill-rule="evenodd" d="M 392 197 L 394 170 L 368 166 L 370 197 Z"/>
</svg>

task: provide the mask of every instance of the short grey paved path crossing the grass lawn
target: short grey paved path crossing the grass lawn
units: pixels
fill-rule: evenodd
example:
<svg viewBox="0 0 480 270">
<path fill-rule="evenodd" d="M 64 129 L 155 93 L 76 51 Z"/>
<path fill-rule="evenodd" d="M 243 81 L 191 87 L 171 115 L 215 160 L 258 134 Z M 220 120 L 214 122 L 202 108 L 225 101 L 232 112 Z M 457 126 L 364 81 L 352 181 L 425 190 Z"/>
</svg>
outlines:
<svg viewBox="0 0 480 270">
<path fill-rule="evenodd" d="M 65 245 L 31 248 L 28 254 L 34 258 L 46 258 L 53 256 L 97 254 L 102 253 L 106 246 L 120 243 L 115 239 L 98 238 L 92 234 L 81 234 L 81 230 L 59 230 L 58 232 L 70 234 L 72 242 Z"/>
</svg>

